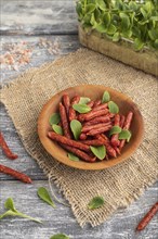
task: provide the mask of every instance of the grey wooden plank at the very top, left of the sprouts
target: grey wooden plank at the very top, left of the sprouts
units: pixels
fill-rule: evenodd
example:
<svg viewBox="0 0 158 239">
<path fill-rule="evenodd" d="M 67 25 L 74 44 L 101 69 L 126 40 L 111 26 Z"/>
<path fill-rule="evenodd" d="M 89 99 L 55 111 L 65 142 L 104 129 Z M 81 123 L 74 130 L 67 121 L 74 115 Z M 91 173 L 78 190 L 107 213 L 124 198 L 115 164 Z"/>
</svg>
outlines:
<svg viewBox="0 0 158 239">
<path fill-rule="evenodd" d="M 74 0 L 3 0 L 1 26 L 3 35 L 77 34 Z"/>
</svg>

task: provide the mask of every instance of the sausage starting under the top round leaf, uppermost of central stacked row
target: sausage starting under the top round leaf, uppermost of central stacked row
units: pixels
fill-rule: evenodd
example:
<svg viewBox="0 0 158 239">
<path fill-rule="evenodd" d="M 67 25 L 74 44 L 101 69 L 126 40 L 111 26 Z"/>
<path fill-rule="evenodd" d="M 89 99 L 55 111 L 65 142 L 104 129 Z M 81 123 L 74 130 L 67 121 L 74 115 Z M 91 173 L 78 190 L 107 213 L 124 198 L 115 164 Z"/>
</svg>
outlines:
<svg viewBox="0 0 158 239">
<path fill-rule="evenodd" d="M 105 115 L 107 112 L 108 112 L 108 109 L 106 109 L 106 110 L 100 110 L 100 111 L 93 111 L 93 110 L 92 110 L 92 111 L 89 112 L 89 113 L 79 114 L 78 120 L 79 120 L 80 122 L 83 122 L 83 121 L 88 122 L 88 121 L 90 121 L 90 120 L 92 120 L 92 118 L 94 118 L 94 117 L 98 117 L 98 116 Z"/>
</svg>

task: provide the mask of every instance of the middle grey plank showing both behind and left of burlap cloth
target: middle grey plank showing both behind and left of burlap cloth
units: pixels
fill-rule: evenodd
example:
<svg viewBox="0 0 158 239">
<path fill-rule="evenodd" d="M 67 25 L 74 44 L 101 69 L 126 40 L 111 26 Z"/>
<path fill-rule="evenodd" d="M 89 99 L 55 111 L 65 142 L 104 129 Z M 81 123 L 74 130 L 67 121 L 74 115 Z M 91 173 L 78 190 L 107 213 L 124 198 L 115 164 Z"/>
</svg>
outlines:
<svg viewBox="0 0 158 239">
<path fill-rule="evenodd" d="M 29 67 L 37 67 L 45 62 L 53 61 L 56 58 L 67 54 L 71 51 L 75 51 L 79 48 L 79 41 L 77 36 L 51 36 L 51 37 L 43 37 L 44 39 L 49 39 L 50 41 L 54 41 L 56 38 L 58 39 L 58 43 L 61 45 L 58 54 L 50 54 L 45 48 L 39 47 L 40 37 L 2 37 L 1 45 L 2 45 L 2 53 L 5 52 L 5 48 L 8 48 L 9 43 L 13 42 L 21 42 L 27 41 L 28 46 L 34 48 L 32 58 L 30 64 L 26 65 L 25 67 L 19 68 L 21 72 L 26 71 Z M 15 78 L 19 72 L 15 72 L 14 70 L 3 68 L 1 71 L 1 83 L 6 84 Z M 4 106 L 0 105 L 0 125 L 1 131 L 4 134 L 6 141 L 11 149 L 18 154 L 18 159 L 16 161 L 8 160 L 0 150 L 1 156 L 0 162 L 6 166 L 12 166 L 15 169 L 22 171 L 28 174 L 32 179 L 45 179 L 42 171 L 39 168 L 37 163 L 26 153 L 17 133 L 15 131 L 14 125 L 9 117 Z M 0 179 L 11 179 L 10 176 L 5 176 L 0 174 Z"/>
</svg>

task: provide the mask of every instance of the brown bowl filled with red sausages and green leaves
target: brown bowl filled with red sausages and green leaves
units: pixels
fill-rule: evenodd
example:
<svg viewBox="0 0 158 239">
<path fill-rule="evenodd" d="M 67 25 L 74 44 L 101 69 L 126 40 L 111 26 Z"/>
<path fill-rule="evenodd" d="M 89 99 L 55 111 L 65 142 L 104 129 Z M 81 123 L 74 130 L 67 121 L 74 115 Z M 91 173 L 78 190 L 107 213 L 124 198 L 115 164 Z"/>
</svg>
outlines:
<svg viewBox="0 0 158 239">
<path fill-rule="evenodd" d="M 80 85 L 53 96 L 38 118 L 44 149 L 80 169 L 104 169 L 129 159 L 143 140 L 137 105 L 101 85 Z"/>
</svg>

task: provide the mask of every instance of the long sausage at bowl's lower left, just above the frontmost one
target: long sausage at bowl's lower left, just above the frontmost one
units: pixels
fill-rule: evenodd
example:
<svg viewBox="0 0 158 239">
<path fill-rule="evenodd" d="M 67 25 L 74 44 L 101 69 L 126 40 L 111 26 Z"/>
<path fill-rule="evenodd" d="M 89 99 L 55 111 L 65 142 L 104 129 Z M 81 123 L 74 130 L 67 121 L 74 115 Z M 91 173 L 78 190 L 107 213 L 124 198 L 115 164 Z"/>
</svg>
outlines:
<svg viewBox="0 0 158 239">
<path fill-rule="evenodd" d="M 54 131 L 49 131 L 48 136 L 49 136 L 49 138 L 53 139 L 54 141 L 78 148 L 78 149 L 83 150 L 85 152 L 90 152 L 90 147 L 89 146 L 85 146 L 82 142 L 78 142 L 78 141 L 73 140 L 73 139 L 68 139 L 65 136 L 57 135 Z"/>
</svg>

